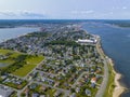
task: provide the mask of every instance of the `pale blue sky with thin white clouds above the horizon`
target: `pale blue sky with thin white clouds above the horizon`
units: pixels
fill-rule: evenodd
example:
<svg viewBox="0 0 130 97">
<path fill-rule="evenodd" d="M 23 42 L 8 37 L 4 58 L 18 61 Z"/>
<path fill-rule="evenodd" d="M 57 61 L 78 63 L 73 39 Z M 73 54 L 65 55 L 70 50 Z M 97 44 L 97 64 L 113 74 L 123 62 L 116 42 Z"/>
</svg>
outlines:
<svg viewBox="0 0 130 97">
<path fill-rule="evenodd" d="M 0 19 L 130 19 L 130 0 L 0 0 Z"/>
</svg>

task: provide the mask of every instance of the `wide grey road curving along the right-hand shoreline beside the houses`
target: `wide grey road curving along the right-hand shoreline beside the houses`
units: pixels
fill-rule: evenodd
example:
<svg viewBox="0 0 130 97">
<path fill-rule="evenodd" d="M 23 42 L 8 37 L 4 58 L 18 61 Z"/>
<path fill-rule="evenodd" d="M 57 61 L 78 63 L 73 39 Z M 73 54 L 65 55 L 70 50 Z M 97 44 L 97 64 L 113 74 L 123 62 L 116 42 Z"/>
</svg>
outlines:
<svg viewBox="0 0 130 97">
<path fill-rule="evenodd" d="M 106 86 L 107 86 L 107 82 L 108 82 L 108 63 L 107 63 L 107 59 L 104 57 L 104 54 L 103 54 L 102 48 L 100 46 L 100 41 L 101 41 L 100 38 L 98 38 L 96 48 L 98 48 L 98 52 L 100 53 L 100 56 L 104 63 L 104 78 L 103 78 L 103 82 L 102 82 L 95 97 L 103 97 L 105 89 L 106 89 Z"/>
</svg>

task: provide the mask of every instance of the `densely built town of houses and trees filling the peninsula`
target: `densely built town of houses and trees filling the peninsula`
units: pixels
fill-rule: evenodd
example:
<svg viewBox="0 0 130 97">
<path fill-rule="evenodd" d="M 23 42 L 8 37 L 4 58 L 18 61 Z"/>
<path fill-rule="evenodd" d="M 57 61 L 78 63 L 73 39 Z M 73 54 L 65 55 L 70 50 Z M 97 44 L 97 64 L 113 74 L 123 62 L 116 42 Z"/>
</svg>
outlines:
<svg viewBox="0 0 130 97">
<path fill-rule="evenodd" d="M 0 43 L 0 97 L 94 97 L 104 79 L 98 42 L 78 24 L 55 24 Z"/>
</svg>

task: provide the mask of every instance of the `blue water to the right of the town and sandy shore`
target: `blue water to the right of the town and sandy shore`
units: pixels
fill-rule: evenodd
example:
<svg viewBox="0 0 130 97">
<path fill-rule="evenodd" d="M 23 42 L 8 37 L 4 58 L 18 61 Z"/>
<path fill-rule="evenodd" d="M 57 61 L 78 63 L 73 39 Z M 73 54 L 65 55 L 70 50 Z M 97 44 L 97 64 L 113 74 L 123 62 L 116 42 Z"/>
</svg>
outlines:
<svg viewBox="0 0 130 97">
<path fill-rule="evenodd" d="M 102 46 L 106 55 L 115 63 L 115 69 L 123 77 L 121 84 L 130 88 L 130 28 L 121 28 L 103 23 L 90 22 L 83 29 L 102 38 Z M 121 97 L 130 97 L 130 92 Z"/>
</svg>

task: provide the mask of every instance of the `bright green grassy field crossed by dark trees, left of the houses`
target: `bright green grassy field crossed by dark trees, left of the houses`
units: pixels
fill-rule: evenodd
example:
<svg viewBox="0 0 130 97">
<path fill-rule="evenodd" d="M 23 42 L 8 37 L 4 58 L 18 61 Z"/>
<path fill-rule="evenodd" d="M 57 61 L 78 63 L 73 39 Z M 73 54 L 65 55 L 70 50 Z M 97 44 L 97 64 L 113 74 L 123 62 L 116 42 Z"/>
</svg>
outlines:
<svg viewBox="0 0 130 97">
<path fill-rule="evenodd" d="M 27 55 L 10 50 L 0 50 L 0 55 L 6 56 L 5 59 L 0 59 L 0 63 L 8 64 L 8 66 L 0 69 L 3 69 L 3 72 L 9 72 L 18 77 L 25 77 L 43 60 L 43 56 Z"/>
</svg>

